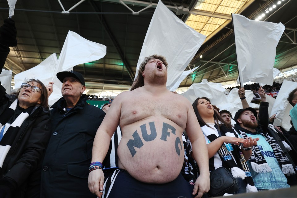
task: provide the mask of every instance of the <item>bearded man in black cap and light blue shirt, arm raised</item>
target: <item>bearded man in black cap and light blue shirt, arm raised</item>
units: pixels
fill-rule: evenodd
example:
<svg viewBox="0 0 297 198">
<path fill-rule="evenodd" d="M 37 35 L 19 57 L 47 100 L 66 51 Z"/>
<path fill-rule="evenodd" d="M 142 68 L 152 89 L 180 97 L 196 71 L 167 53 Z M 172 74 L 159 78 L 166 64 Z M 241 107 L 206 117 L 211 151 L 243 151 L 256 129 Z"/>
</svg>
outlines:
<svg viewBox="0 0 297 198">
<path fill-rule="evenodd" d="M 295 174 L 295 165 L 278 133 L 268 127 L 269 103 L 266 102 L 264 89 L 260 87 L 258 93 L 262 99 L 258 121 L 255 109 L 240 109 L 234 117 L 234 128 L 242 138 L 258 139 L 257 145 L 250 148 L 252 156 L 248 161 L 257 189 L 288 188 L 287 176 Z"/>
</svg>

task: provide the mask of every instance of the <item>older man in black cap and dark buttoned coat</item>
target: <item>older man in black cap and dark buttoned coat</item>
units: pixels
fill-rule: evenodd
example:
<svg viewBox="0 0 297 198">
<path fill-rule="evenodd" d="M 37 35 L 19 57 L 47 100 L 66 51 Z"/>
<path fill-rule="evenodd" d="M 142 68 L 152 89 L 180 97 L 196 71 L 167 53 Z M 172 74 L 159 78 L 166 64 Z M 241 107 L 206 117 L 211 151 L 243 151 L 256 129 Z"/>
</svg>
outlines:
<svg viewBox="0 0 297 198">
<path fill-rule="evenodd" d="M 57 74 L 62 98 L 51 108 L 52 135 L 41 174 L 41 197 L 96 197 L 88 190 L 88 171 L 97 128 L 105 113 L 86 103 L 83 76 L 76 71 Z"/>
</svg>

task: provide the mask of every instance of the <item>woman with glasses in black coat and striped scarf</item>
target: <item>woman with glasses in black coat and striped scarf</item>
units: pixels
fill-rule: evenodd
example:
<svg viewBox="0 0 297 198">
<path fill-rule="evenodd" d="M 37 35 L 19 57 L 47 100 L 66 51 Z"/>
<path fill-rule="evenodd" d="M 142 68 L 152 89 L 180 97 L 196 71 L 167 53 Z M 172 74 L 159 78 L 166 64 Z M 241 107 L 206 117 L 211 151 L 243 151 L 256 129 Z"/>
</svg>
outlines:
<svg viewBox="0 0 297 198">
<path fill-rule="evenodd" d="M 2 69 L 2 68 L 1 68 Z M 31 79 L 15 95 L 0 91 L 0 197 L 23 197 L 49 140 L 48 91 Z"/>
</svg>

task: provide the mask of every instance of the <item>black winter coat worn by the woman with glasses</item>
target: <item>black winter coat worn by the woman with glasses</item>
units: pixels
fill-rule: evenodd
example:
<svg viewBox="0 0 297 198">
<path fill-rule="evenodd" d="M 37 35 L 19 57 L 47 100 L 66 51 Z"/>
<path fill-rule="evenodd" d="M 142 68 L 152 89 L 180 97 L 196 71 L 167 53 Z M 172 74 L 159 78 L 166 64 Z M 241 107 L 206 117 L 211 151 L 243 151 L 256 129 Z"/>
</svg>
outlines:
<svg viewBox="0 0 297 198">
<path fill-rule="evenodd" d="M 0 52 L 0 69 L 2 71 L 8 52 Z M 0 72 L 1 73 L 1 72 Z M 0 115 L 15 101 L 16 96 L 7 95 L 0 86 Z M 49 109 L 40 105 L 34 107 L 29 117 L 24 120 L 19 128 L 3 166 L 0 170 L 0 181 L 11 181 L 16 187 L 13 198 L 24 197 L 28 180 L 37 170 L 50 135 Z"/>
</svg>

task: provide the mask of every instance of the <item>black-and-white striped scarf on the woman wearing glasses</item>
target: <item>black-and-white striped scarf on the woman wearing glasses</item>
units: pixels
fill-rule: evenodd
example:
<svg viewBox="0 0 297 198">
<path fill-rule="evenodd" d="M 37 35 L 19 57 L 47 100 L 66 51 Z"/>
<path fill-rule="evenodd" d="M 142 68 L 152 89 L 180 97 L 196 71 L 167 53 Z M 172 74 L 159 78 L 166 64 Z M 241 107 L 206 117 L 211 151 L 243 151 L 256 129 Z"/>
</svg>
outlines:
<svg viewBox="0 0 297 198">
<path fill-rule="evenodd" d="M 18 99 L 16 99 L 9 108 L 6 108 L 4 112 L 0 115 L 0 131 L 3 129 L 3 137 L 0 141 L 0 168 L 3 166 L 3 162 L 15 137 L 19 131 L 19 127 L 22 125 L 24 120 L 28 118 L 29 111 L 32 108 L 26 109 L 25 112 L 22 112 L 11 124 L 8 123 L 13 114 L 15 113 L 15 109 L 18 105 Z"/>
</svg>

